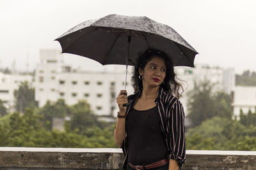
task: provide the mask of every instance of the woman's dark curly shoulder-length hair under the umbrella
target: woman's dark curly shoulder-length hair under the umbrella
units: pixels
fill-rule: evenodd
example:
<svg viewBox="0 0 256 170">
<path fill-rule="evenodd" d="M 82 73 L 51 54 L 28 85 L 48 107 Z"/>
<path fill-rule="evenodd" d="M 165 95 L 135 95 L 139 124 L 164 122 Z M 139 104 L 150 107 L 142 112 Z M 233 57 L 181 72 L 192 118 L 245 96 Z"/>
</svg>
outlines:
<svg viewBox="0 0 256 170">
<path fill-rule="evenodd" d="M 168 57 L 166 53 L 152 48 L 145 50 L 145 52 L 138 57 L 138 60 L 136 61 L 136 64 L 132 70 L 131 81 L 134 92 L 143 89 L 142 81 L 139 79 L 139 67 L 141 69 L 144 69 L 148 61 L 150 61 L 155 56 L 163 58 L 166 64 L 166 76 L 164 78 L 164 82 L 160 86 L 163 87 L 164 90 L 173 94 L 174 96 L 178 98 L 181 97 L 181 94 L 182 92 L 184 92 L 184 89 L 182 88 L 182 85 L 177 82 L 177 77 L 176 74 L 174 73 L 172 59 L 170 59 L 170 57 Z"/>
</svg>

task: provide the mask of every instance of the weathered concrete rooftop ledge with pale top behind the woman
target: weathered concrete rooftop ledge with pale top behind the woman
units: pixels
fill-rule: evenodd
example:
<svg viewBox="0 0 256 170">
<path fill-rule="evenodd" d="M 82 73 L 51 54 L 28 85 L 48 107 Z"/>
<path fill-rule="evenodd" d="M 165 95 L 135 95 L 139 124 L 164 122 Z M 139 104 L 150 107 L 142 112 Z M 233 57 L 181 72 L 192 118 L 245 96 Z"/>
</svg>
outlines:
<svg viewBox="0 0 256 170">
<path fill-rule="evenodd" d="M 183 169 L 256 169 L 256 152 L 187 150 Z M 119 148 L 0 147 L 0 169 L 121 169 Z"/>
</svg>

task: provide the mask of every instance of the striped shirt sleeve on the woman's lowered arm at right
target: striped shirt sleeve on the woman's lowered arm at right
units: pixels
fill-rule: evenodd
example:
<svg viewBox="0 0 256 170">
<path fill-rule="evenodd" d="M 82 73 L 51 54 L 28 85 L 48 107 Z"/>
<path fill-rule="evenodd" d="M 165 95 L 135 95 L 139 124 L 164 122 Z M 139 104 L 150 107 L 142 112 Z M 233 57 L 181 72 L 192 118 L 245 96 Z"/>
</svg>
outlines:
<svg viewBox="0 0 256 170">
<path fill-rule="evenodd" d="M 170 146 L 172 153 L 170 153 L 170 159 L 176 160 L 180 167 L 186 160 L 185 114 L 180 101 L 177 100 L 173 104 L 171 111 Z"/>
</svg>

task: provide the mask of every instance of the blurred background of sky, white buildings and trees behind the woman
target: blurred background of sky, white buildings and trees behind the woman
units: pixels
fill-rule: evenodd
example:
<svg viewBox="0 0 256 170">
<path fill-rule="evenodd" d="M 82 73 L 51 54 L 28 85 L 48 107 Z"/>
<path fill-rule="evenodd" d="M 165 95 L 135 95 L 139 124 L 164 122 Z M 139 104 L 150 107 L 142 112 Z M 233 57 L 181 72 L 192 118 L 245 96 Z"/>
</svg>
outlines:
<svg viewBox="0 0 256 170">
<path fill-rule="evenodd" d="M 175 67 L 188 149 L 256 150 L 255 8 L 250 0 L 1 0 L 0 146 L 116 147 L 125 67 L 61 54 L 54 41 L 116 13 L 170 25 L 199 52 L 195 68 Z"/>
</svg>

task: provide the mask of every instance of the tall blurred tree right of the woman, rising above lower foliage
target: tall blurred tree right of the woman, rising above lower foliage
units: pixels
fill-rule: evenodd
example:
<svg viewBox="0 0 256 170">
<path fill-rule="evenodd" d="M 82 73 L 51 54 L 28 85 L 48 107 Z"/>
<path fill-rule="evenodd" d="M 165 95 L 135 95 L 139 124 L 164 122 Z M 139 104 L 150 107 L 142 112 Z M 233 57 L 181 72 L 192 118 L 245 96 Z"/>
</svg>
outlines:
<svg viewBox="0 0 256 170">
<path fill-rule="evenodd" d="M 210 81 L 195 82 L 195 88 L 188 94 L 188 118 L 191 127 L 200 125 L 205 120 L 219 116 L 231 118 L 231 97 L 225 92 L 212 92 Z"/>
</svg>

